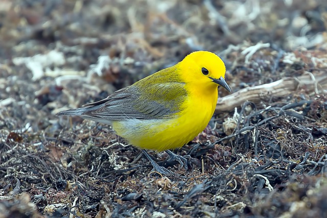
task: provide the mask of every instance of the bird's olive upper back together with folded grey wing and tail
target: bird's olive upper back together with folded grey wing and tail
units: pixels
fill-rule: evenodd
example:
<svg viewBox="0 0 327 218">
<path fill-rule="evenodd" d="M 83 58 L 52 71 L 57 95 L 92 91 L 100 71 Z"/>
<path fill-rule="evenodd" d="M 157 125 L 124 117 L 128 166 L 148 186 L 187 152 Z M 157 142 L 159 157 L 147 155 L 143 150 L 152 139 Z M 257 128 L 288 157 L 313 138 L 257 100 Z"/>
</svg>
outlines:
<svg viewBox="0 0 327 218">
<path fill-rule="evenodd" d="M 102 123 L 177 116 L 188 99 L 185 83 L 180 82 L 177 70 L 175 66 L 160 70 L 132 86 L 115 91 L 106 99 L 57 115 L 78 115 Z"/>
</svg>

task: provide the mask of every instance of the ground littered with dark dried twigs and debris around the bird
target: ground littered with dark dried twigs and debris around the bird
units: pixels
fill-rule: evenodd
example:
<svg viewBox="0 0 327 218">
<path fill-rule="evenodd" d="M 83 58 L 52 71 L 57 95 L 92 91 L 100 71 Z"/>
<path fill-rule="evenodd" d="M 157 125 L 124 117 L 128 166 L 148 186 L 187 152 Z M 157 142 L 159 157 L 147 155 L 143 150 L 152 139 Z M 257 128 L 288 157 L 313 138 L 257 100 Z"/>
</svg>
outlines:
<svg viewBox="0 0 327 218">
<path fill-rule="evenodd" d="M 0 17 L 0 217 L 327 216 L 326 1 L 4 0 Z M 174 151 L 187 170 L 55 116 L 196 50 L 233 93 Z"/>
</svg>

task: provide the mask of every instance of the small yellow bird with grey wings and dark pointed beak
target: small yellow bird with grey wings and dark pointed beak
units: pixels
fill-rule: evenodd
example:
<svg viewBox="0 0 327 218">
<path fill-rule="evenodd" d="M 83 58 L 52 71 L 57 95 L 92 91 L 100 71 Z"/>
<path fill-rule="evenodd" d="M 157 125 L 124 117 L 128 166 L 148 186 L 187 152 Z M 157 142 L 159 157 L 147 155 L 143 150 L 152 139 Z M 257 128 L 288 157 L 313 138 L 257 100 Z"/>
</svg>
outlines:
<svg viewBox="0 0 327 218">
<path fill-rule="evenodd" d="M 166 151 L 186 166 L 186 159 L 169 149 L 182 147 L 207 126 L 214 114 L 218 86 L 231 91 L 226 67 L 214 53 L 197 51 L 174 66 L 125 87 L 106 99 L 57 115 L 77 115 L 111 125 L 117 135 L 141 149 Z M 154 170 L 171 173 L 150 160 Z"/>
</svg>

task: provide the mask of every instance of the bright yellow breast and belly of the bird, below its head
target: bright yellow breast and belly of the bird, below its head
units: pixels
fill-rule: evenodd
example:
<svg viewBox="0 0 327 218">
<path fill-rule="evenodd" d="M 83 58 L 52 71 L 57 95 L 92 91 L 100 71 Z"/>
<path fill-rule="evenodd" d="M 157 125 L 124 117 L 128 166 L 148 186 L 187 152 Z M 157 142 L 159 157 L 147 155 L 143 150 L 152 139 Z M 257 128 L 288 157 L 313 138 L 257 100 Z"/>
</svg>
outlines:
<svg viewBox="0 0 327 218">
<path fill-rule="evenodd" d="M 116 133 L 142 149 L 164 151 L 182 147 L 207 126 L 218 98 L 217 87 L 211 92 L 189 93 L 183 110 L 173 119 L 128 119 L 112 123 Z"/>
</svg>

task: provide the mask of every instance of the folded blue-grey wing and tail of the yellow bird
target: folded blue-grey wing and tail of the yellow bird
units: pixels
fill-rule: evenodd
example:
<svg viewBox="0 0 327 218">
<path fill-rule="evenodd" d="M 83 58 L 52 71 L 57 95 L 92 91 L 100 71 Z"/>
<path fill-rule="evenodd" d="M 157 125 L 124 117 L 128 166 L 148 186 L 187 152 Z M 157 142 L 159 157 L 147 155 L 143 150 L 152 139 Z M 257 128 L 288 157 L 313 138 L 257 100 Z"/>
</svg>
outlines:
<svg viewBox="0 0 327 218">
<path fill-rule="evenodd" d="M 129 86 L 114 92 L 106 99 L 83 105 L 82 108 L 63 111 L 58 115 L 79 115 L 97 121 L 169 118 L 180 111 L 180 104 L 187 96 L 183 83 L 174 84 L 173 93 L 170 87 L 158 85 L 155 87 L 156 92 L 149 97 L 137 94 L 140 93 L 137 87 Z M 172 97 L 164 98 L 167 93 L 171 93 Z M 158 98 L 160 103 L 153 100 Z"/>
</svg>

